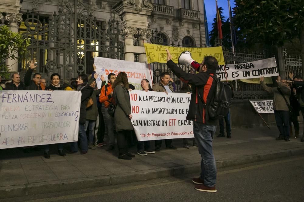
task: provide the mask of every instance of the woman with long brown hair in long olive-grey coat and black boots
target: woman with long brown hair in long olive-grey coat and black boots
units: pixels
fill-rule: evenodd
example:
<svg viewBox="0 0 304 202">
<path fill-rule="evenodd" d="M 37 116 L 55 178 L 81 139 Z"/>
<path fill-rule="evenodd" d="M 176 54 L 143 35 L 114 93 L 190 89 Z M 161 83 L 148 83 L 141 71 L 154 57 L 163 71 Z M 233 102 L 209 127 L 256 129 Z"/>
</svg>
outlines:
<svg viewBox="0 0 304 202">
<path fill-rule="evenodd" d="M 125 72 L 119 72 L 112 88 L 116 103 L 114 121 L 117 132 L 118 158 L 131 160 L 135 155 L 128 151 L 128 136 L 131 135 L 130 131 L 133 131 L 133 125 L 131 123 L 129 82 Z"/>
</svg>

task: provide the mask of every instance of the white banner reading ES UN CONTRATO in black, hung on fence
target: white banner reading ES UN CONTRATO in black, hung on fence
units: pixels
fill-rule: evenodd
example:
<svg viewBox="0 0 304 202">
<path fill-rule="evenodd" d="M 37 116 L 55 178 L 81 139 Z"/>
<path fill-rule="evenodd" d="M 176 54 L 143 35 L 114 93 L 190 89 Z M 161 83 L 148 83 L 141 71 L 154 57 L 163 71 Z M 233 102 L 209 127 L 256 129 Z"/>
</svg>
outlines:
<svg viewBox="0 0 304 202">
<path fill-rule="evenodd" d="M 226 68 L 226 73 L 225 73 Z M 268 58 L 241 64 L 219 65 L 216 74 L 221 80 L 236 80 L 244 78 L 260 78 L 278 76 L 279 70 L 275 58 Z"/>
</svg>

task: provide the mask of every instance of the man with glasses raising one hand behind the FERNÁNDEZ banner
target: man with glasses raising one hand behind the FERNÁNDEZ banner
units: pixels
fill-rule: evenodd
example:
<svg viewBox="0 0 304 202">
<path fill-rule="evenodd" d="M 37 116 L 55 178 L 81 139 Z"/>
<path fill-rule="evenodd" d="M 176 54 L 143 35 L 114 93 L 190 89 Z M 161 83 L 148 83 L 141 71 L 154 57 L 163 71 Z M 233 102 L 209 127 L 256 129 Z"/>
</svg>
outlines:
<svg viewBox="0 0 304 202">
<path fill-rule="evenodd" d="M 33 75 L 33 80 L 31 80 L 31 75 L 33 73 L 33 70 L 37 67 L 35 61 L 30 61 L 29 62 L 29 69 L 26 71 L 26 74 L 24 76 L 24 83 L 25 83 L 25 89 L 29 91 L 38 91 L 42 90 L 40 86 L 41 82 L 41 74 L 40 73 L 35 73 Z"/>
</svg>

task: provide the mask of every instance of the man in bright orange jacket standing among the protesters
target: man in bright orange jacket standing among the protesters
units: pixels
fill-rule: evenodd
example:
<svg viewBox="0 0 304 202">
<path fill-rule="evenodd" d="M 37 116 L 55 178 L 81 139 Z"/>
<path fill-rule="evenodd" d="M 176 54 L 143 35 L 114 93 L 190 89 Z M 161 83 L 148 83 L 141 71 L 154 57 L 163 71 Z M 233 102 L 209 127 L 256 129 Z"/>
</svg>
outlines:
<svg viewBox="0 0 304 202">
<path fill-rule="evenodd" d="M 107 148 L 107 151 L 114 150 L 115 145 L 115 134 L 114 134 L 114 118 L 110 116 L 108 113 L 109 105 L 114 101 L 113 100 L 113 89 L 112 85 L 116 79 L 116 75 L 113 73 L 110 73 L 108 75 L 108 84 L 104 85 L 101 89 L 101 93 L 99 96 L 99 102 L 105 103 L 105 122 L 107 125 L 107 131 L 109 136 L 109 147 Z"/>
</svg>

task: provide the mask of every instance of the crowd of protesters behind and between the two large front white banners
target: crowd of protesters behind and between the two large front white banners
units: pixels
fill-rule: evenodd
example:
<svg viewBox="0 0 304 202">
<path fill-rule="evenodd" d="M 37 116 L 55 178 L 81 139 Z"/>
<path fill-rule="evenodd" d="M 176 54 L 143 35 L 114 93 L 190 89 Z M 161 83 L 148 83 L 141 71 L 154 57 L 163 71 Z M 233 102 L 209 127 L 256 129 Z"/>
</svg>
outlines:
<svg viewBox="0 0 304 202">
<path fill-rule="evenodd" d="M 60 79 L 58 73 L 50 75 L 50 78 L 42 78 L 40 73 L 33 71 L 37 67 L 35 61 L 29 62 L 29 69 L 24 76 L 24 82 L 21 81 L 18 73 L 12 74 L 12 80 L 1 85 L 0 90 L 45 90 L 45 91 L 81 91 L 81 107 L 79 115 L 78 142 L 73 142 L 69 146 L 68 153 L 76 153 L 80 150 L 81 154 L 86 154 L 88 149 L 95 150 L 96 147 L 108 145 L 106 151 L 114 151 L 115 145 L 118 147 L 118 158 L 130 160 L 135 155 L 128 151 L 130 142 L 136 142 L 137 154 L 146 156 L 160 151 L 161 140 L 156 141 L 134 141 L 135 133 L 131 123 L 131 105 L 129 92 L 135 87 L 129 84 L 127 75 L 120 72 L 117 76 L 113 73 L 106 75 L 108 78 L 105 84 L 105 76 L 95 73 L 95 65 L 93 65 L 92 75 L 80 74 L 77 78 L 71 78 L 70 82 L 64 83 Z M 96 79 L 102 81 L 101 88 L 97 88 Z M 0 83 L 2 78 L 0 77 Z M 48 82 L 47 82 L 48 81 Z M 49 85 L 47 85 L 49 83 Z M 166 94 L 173 93 L 176 85 L 167 72 L 161 74 L 159 83 L 151 86 L 147 79 L 141 81 L 143 91 L 158 91 Z M 188 92 L 189 93 L 189 92 Z M 102 104 L 104 111 L 102 112 Z M 116 105 L 114 116 L 110 115 L 108 108 L 111 104 Z M 105 139 L 105 131 L 107 139 Z M 105 141 L 104 141 L 105 140 Z M 155 147 L 151 143 L 155 142 Z M 187 138 L 183 139 L 184 148 L 188 149 Z M 131 143 L 132 144 L 132 143 Z M 64 143 L 55 144 L 58 154 L 66 156 L 64 152 Z M 197 144 L 193 138 L 193 146 Z M 43 145 L 44 157 L 50 158 L 50 146 Z M 167 149 L 177 149 L 172 145 L 172 139 L 165 140 Z M 40 147 L 31 146 L 23 147 L 25 153 L 31 151 L 40 151 Z"/>
</svg>

